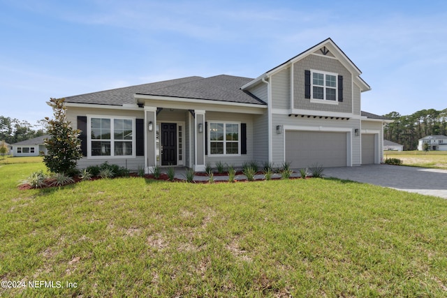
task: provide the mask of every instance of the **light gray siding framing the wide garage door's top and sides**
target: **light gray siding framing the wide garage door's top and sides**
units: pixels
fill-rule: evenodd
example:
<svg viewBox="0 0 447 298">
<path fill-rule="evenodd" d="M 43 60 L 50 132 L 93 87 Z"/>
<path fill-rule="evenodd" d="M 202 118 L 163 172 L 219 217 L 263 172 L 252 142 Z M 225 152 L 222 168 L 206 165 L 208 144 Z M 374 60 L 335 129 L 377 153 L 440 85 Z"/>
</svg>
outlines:
<svg viewBox="0 0 447 298">
<path fill-rule="evenodd" d="M 320 119 L 318 117 L 288 117 L 286 114 L 273 114 L 272 115 L 272 162 L 276 165 L 284 163 L 285 151 L 284 151 L 284 130 L 281 134 L 276 133 L 276 126 L 305 126 L 309 130 L 315 128 L 342 128 L 351 131 L 351 163 L 353 165 L 360 165 L 360 137 L 355 137 L 354 128 L 360 128 L 359 119 L 349 119 L 349 120 L 331 120 L 331 119 Z"/>
</svg>

